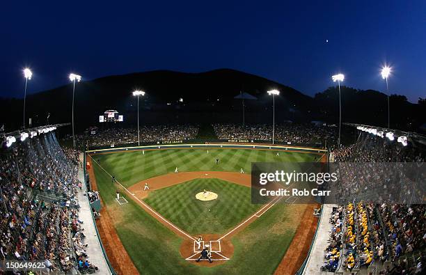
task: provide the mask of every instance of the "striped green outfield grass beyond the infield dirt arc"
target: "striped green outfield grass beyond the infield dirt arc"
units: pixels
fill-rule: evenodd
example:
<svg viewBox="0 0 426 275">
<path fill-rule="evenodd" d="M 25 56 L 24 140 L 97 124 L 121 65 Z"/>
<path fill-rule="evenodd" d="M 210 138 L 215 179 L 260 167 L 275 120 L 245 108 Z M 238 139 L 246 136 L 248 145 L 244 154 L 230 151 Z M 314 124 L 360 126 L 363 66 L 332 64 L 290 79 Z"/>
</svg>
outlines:
<svg viewBox="0 0 426 275">
<path fill-rule="evenodd" d="M 178 167 L 184 171 L 235 171 L 241 168 L 251 172 L 252 162 L 314 162 L 318 155 L 301 152 L 248 149 L 164 149 L 133 152 L 115 152 L 96 155 L 102 167 L 116 176 L 125 187 L 157 175 L 173 173 Z M 219 158 L 219 164 L 216 164 Z"/>
</svg>

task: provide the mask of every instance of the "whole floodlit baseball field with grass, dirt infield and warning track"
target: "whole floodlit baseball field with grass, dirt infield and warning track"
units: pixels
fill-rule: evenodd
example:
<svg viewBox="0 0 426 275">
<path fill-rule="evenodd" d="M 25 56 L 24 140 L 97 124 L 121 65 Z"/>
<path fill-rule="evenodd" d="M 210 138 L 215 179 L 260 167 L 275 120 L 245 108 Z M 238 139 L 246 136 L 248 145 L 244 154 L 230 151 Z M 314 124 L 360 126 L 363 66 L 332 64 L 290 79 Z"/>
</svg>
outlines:
<svg viewBox="0 0 426 275">
<path fill-rule="evenodd" d="M 294 274 L 315 232 L 316 205 L 252 204 L 251 163 L 315 162 L 321 155 L 277 152 L 173 148 L 88 156 L 90 182 L 103 205 L 97 228 L 116 272 Z M 203 190 L 218 197 L 196 199 Z M 212 263 L 195 261 L 199 236 Z"/>
</svg>

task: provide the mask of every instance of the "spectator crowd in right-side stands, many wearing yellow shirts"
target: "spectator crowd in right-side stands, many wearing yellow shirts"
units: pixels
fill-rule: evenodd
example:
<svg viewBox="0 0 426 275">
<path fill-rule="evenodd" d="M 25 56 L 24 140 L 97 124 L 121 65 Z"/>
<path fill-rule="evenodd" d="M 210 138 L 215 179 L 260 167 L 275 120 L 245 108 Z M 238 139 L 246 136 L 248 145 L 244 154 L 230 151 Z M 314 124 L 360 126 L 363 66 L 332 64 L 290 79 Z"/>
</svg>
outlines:
<svg viewBox="0 0 426 275">
<path fill-rule="evenodd" d="M 361 133 L 358 141 L 349 146 L 333 150 L 331 159 L 334 162 L 349 164 L 352 169 L 344 170 L 352 173 L 356 170 L 352 163 L 384 164 L 380 168 L 366 169 L 361 176 L 348 175 L 352 181 L 347 181 L 344 190 L 358 189 L 367 193 L 372 189 L 374 179 L 381 175 L 390 174 L 390 169 L 401 171 L 404 165 L 411 164 L 420 167 L 424 162 L 423 152 L 414 147 L 404 147 L 387 139 Z M 394 165 L 388 162 L 395 162 Z M 390 168 L 386 168 L 386 166 Z M 351 172 L 352 171 L 352 172 Z M 424 200 L 424 179 L 420 185 L 409 184 L 409 177 L 400 173 L 397 192 L 408 194 L 409 198 Z M 342 170 L 340 169 L 340 172 Z M 381 178 L 381 180 L 385 180 Z M 423 183 L 423 185 L 421 185 Z M 423 274 L 426 258 L 426 206 L 424 204 L 393 203 L 391 196 L 385 196 L 387 189 L 394 187 L 379 187 L 383 201 L 364 201 L 354 198 L 353 201 L 333 207 L 331 214 L 330 245 L 324 252 L 322 270 L 335 272 L 336 269 L 352 272 L 352 269 L 362 269 L 374 262 L 390 262 L 380 274 Z M 343 194 L 347 195 L 347 194 Z M 347 198 L 347 197 L 345 197 Z M 342 224 L 340 223 L 342 221 Z M 338 255 L 338 257 L 336 257 Z"/>
</svg>

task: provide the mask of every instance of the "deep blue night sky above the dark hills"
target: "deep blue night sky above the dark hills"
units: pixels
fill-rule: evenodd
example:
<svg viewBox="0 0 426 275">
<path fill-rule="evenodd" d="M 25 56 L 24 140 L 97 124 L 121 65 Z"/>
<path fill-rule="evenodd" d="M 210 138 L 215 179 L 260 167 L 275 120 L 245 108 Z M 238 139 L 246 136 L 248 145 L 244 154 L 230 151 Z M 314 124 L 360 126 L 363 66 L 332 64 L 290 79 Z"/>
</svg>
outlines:
<svg viewBox="0 0 426 275">
<path fill-rule="evenodd" d="M 3 1 L 0 95 L 146 70 L 232 68 L 314 95 L 345 85 L 426 97 L 426 1 Z M 309 3 L 310 2 L 310 3 Z M 326 42 L 328 40 L 329 42 Z"/>
</svg>

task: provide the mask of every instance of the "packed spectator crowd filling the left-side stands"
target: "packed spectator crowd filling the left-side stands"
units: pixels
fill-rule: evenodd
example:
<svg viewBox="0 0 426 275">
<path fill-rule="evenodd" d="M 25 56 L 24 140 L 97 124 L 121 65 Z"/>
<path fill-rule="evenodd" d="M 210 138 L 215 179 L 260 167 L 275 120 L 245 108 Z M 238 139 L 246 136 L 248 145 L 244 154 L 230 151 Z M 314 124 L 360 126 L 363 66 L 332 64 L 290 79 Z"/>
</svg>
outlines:
<svg viewBox="0 0 426 275">
<path fill-rule="evenodd" d="M 78 152 L 61 148 L 51 132 L 3 148 L 0 156 L 0 260 L 95 272 L 79 220 Z"/>
</svg>

